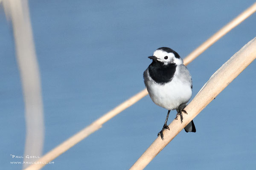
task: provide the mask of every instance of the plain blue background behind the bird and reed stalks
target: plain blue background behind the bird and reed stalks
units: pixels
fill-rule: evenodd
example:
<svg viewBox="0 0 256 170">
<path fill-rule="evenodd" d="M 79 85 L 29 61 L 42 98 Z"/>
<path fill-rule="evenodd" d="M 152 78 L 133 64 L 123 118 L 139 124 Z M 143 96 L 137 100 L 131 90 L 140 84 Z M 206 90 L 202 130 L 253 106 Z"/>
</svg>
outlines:
<svg viewBox="0 0 256 170">
<path fill-rule="evenodd" d="M 154 50 L 167 46 L 184 58 L 253 3 L 30 0 L 44 101 L 44 153 L 143 90 L 143 71 Z M 190 63 L 192 97 L 254 37 L 256 14 Z M 24 152 L 24 103 L 12 26 L 2 5 L 0 51 L 0 167 L 21 169 L 10 164 L 10 154 Z M 254 61 L 194 119 L 196 133 L 181 131 L 145 169 L 255 168 L 255 70 Z M 43 169 L 128 169 L 157 137 L 166 113 L 146 96 Z"/>
</svg>

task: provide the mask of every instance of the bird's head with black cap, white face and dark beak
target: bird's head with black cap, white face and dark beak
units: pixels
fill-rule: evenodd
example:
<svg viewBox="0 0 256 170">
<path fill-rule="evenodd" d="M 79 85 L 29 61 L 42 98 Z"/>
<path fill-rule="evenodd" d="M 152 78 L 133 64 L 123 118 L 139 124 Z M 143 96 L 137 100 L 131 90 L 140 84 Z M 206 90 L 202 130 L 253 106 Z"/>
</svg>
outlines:
<svg viewBox="0 0 256 170">
<path fill-rule="evenodd" d="M 154 51 L 153 56 L 149 56 L 148 58 L 153 59 L 153 61 L 162 62 L 163 65 L 168 64 L 183 64 L 182 58 L 180 58 L 179 54 L 168 47 L 161 47 Z"/>
</svg>

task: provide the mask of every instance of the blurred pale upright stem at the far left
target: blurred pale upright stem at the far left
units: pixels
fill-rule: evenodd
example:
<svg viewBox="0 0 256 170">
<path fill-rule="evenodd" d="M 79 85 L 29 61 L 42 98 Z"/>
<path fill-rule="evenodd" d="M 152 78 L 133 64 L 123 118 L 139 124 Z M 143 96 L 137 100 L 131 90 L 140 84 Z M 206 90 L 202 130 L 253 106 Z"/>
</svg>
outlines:
<svg viewBox="0 0 256 170">
<path fill-rule="evenodd" d="M 12 20 L 17 64 L 25 104 L 26 143 L 24 155 L 41 156 L 44 144 L 44 113 L 41 80 L 27 0 L 3 0 L 6 17 Z M 23 161 L 35 161 L 24 156 Z M 28 164 L 23 164 L 27 166 Z"/>
</svg>

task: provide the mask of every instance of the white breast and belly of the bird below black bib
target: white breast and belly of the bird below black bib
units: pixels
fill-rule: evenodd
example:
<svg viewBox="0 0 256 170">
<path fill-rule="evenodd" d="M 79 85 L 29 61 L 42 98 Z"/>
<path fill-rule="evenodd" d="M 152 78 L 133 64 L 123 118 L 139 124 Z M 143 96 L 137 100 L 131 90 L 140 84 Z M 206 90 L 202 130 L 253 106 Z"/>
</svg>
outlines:
<svg viewBox="0 0 256 170">
<path fill-rule="evenodd" d="M 148 73 L 147 73 L 148 74 Z M 148 76 L 147 90 L 153 102 L 168 110 L 177 109 L 186 104 L 192 96 L 191 83 L 177 78 L 177 72 L 171 82 L 159 85 Z M 149 75 L 149 74 L 148 74 Z"/>
</svg>

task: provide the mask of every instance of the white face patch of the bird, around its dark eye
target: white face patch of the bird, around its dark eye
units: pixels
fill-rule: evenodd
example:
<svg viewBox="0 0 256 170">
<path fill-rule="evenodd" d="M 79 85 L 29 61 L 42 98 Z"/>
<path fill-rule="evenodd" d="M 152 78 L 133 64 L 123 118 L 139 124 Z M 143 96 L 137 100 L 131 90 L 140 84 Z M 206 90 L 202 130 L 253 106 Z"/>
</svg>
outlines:
<svg viewBox="0 0 256 170">
<path fill-rule="evenodd" d="M 158 61 L 163 62 L 165 65 L 168 63 L 175 63 L 176 65 L 183 64 L 183 60 L 181 58 L 176 58 L 173 53 L 156 50 L 153 55 L 158 58 Z"/>
</svg>

